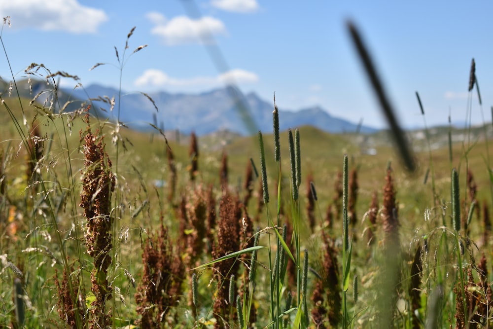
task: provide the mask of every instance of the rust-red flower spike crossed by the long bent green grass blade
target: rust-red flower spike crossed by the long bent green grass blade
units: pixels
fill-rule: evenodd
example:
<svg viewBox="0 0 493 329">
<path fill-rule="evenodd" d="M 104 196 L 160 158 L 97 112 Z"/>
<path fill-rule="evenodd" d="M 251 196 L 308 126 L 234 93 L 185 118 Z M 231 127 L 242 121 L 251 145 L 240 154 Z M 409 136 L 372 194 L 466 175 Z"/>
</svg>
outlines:
<svg viewBox="0 0 493 329">
<path fill-rule="evenodd" d="M 219 219 L 217 222 L 217 242 L 212 249 L 213 258 L 219 258 L 240 250 L 239 218 L 237 216 L 236 200 L 226 191 L 219 204 Z M 229 285 L 231 274 L 238 272 L 240 262 L 236 258 L 226 259 L 215 263 L 214 275 L 217 280 L 217 295 L 213 304 L 216 318 L 214 328 L 225 328 L 223 319 L 229 319 Z M 236 290 L 236 289 L 235 289 Z"/>
</svg>

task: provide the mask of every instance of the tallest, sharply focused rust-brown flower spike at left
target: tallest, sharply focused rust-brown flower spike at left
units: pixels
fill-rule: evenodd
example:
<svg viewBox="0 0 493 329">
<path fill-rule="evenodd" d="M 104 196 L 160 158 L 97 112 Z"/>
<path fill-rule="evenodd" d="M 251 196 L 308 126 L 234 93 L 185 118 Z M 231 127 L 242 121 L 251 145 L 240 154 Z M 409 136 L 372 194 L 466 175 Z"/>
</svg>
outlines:
<svg viewBox="0 0 493 329">
<path fill-rule="evenodd" d="M 84 175 L 80 207 L 84 209 L 87 219 L 86 246 L 87 254 L 94 258 L 94 269 L 91 273 L 91 291 L 95 299 L 91 303 L 90 328 L 105 328 L 109 325 L 106 314 L 106 300 L 111 296 L 108 285 L 107 271 L 111 264 L 111 192 L 114 189 L 114 178 L 111 172 L 111 161 L 105 152 L 105 145 L 93 135 L 89 129 L 84 137 Z M 96 143 L 97 142 L 97 143 Z"/>
</svg>

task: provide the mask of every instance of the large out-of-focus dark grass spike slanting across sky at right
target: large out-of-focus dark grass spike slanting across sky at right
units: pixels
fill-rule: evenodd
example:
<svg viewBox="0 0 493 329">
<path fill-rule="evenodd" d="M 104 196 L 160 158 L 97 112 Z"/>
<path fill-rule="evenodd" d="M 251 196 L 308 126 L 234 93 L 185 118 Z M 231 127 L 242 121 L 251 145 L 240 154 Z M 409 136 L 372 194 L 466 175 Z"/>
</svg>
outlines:
<svg viewBox="0 0 493 329">
<path fill-rule="evenodd" d="M 363 40 L 361 39 L 358 30 L 351 21 L 348 22 L 348 29 L 351 34 L 354 46 L 356 47 L 359 58 L 366 70 L 368 78 L 373 86 L 373 90 L 375 91 L 375 94 L 379 100 L 380 107 L 384 112 L 385 117 L 387 118 L 387 123 L 389 125 L 390 131 L 392 132 L 392 136 L 395 140 L 400 156 L 407 170 L 410 172 L 414 172 L 416 169 L 416 162 L 411 151 L 411 146 L 407 140 L 406 134 L 402 131 L 399 123 L 397 122 L 395 111 L 390 106 L 380 78 L 370 58 L 369 52 L 363 44 Z"/>
</svg>

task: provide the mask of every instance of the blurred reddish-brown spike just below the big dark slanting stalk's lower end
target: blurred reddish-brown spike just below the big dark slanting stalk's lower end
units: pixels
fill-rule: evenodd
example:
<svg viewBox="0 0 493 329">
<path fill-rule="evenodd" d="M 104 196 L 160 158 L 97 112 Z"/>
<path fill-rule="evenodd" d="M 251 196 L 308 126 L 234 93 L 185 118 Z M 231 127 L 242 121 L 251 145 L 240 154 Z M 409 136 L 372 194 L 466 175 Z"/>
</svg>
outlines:
<svg viewBox="0 0 493 329">
<path fill-rule="evenodd" d="M 398 208 L 395 202 L 395 190 L 391 169 L 387 169 L 387 181 L 384 186 L 384 201 L 382 208 L 382 223 L 384 229 L 384 242 L 388 251 L 400 250 Z"/>
</svg>

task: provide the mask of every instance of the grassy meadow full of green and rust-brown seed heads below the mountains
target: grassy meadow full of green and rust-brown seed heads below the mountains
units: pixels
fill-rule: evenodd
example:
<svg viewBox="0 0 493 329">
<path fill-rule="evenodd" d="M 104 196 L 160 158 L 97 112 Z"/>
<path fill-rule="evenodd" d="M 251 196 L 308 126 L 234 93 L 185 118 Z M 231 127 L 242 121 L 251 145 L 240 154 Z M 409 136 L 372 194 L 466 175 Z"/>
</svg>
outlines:
<svg viewBox="0 0 493 329">
<path fill-rule="evenodd" d="M 1 327 L 492 325 L 491 123 L 411 135 L 410 172 L 384 133 L 178 142 L 7 94 Z"/>
</svg>

